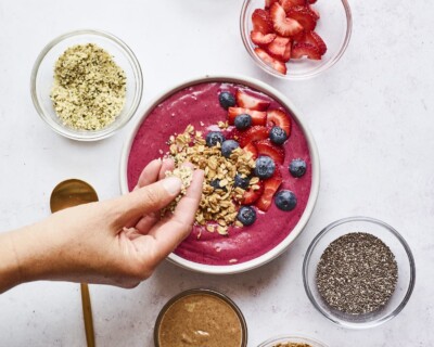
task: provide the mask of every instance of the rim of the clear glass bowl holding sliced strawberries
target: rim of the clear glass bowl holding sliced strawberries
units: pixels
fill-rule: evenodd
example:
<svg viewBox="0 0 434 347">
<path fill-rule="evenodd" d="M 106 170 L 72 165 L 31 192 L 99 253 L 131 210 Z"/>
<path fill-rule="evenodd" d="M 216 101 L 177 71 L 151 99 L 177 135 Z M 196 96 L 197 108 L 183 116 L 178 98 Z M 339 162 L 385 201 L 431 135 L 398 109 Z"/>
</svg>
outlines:
<svg viewBox="0 0 434 347">
<path fill-rule="evenodd" d="M 278 73 L 277 70 L 275 70 L 272 67 L 268 66 L 266 63 L 264 63 L 258 56 L 257 54 L 252 50 L 251 46 L 250 46 L 250 33 L 247 33 L 247 21 L 250 21 L 250 18 L 247 18 L 246 13 L 247 13 L 247 9 L 248 5 L 251 4 L 253 0 L 244 0 L 242 8 L 241 8 L 241 12 L 240 12 L 240 34 L 241 34 L 241 39 L 243 41 L 244 48 L 247 51 L 248 55 L 252 57 L 252 60 L 256 63 L 256 65 L 258 65 L 263 70 L 265 70 L 266 73 L 270 74 L 273 77 L 278 77 L 281 79 L 285 79 L 285 80 L 305 80 L 305 79 L 309 79 L 312 77 L 316 77 L 318 75 L 320 75 L 321 73 L 328 70 L 330 67 L 332 67 L 334 64 L 336 64 L 341 56 L 345 53 L 348 44 L 349 44 L 349 40 L 352 38 L 352 33 L 353 33 L 353 15 L 352 15 L 352 9 L 349 7 L 349 2 L 347 0 L 341 0 L 343 7 L 344 7 L 344 11 L 345 11 L 345 17 L 346 17 L 346 33 L 345 33 L 345 38 L 344 41 L 341 46 L 341 49 L 339 50 L 337 54 L 333 56 L 332 60 L 330 60 L 328 63 L 326 63 L 324 65 L 322 65 L 320 68 L 315 68 L 314 70 L 311 70 L 310 73 L 306 73 L 303 75 L 282 75 L 280 73 Z M 288 63 L 286 63 L 288 64 Z"/>
</svg>

